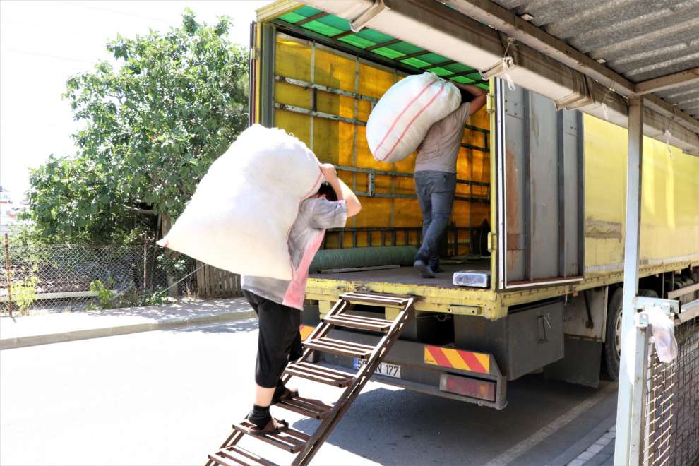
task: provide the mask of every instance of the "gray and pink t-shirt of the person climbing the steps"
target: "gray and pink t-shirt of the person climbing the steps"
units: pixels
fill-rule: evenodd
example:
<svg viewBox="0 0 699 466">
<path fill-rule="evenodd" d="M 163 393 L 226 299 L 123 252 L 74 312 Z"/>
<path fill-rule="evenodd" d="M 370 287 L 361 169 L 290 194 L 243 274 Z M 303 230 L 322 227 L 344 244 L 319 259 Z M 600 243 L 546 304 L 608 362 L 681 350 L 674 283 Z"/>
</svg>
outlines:
<svg viewBox="0 0 699 466">
<path fill-rule="evenodd" d="M 278 304 L 304 309 L 309 265 L 323 243 L 325 230 L 347 222 L 345 201 L 309 198 L 299 205 L 299 216 L 289 231 L 289 255 L 294 266 L 293 280 L 243 275 L 241 288 Z"/>
</svg>

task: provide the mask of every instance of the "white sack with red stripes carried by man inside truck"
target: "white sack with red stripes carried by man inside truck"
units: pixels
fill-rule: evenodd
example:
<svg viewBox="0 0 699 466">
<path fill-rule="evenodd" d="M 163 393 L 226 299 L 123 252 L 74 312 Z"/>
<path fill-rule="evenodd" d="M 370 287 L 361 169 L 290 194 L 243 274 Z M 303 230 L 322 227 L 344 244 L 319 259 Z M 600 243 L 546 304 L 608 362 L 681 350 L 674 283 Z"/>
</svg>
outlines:
<svg viewBox="0 0 699 466">
<path fill-rule="evenodd" d="M 366 142 L 378 162 L 398 162 L 427 131 L 459 106 L 459 90 L 434 73 L 407 76 L 378 101 L 366 122 Z"/>
</svg>

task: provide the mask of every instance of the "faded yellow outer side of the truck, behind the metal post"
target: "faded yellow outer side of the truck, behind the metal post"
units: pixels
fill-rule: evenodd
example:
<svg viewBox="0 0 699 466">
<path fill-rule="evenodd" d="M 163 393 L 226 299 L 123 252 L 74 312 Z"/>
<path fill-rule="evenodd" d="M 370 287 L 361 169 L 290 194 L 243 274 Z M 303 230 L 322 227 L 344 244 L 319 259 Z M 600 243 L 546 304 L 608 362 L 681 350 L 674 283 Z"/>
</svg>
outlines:
<svg viewBox="0 0 699 466">
<path fill-rule="evenodd" d="M 623 268 L 627 130 L 585 115 L 586 275 Z M 641 265 L 699 260 L 699 157 L 643 138 Z"/>
</svg>

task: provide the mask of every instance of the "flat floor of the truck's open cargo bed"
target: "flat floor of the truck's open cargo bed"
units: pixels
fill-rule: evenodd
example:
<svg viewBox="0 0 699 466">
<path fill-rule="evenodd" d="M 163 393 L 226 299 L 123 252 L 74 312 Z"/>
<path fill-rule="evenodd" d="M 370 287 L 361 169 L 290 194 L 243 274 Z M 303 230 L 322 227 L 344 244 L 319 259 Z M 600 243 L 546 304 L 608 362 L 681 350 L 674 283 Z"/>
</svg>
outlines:
<svg viewBox="0 0 699 466">
<path fill-rule="evenodd" d="M 310 278 L 316 280 L 345 280 L 349 282 L 379 282 L 401 283 L 405 285 L 429 285 L 442 288 L 462 288 L 452 283 L 454 272 L 459 270 L 490 270 L 489 259 L 469 261 L 462 264 L 443 264 L 444 272 L 436 274 L 434 278 L 420 277 L 417 269 L 413 267 L 392 268 L 386 270 L 362 270 L 358 272 L 344 273 L 311 273 Z"/>
</svg>

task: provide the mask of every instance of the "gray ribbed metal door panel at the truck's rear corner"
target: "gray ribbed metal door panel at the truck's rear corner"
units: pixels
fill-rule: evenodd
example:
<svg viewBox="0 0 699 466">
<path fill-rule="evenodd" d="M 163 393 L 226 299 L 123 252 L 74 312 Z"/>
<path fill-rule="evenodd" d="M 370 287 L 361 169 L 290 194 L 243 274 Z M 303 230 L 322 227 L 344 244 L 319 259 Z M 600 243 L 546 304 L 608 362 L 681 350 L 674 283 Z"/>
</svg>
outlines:
<svg viewBox="0 0 699 466">
<path fill-rule="evenodd" d="M 496 79 L 499 289 L 582 280 L 582 114 Z"/>
</svg>

